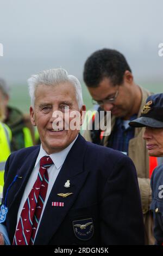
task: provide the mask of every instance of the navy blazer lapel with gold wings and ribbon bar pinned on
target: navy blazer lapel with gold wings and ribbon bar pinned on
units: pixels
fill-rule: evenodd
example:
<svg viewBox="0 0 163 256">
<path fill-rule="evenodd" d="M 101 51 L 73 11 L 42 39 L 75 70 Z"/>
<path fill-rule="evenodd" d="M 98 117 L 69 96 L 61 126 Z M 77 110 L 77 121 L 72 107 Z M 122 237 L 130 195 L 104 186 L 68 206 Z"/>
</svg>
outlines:
<svg viewBox="0 0 163 256">
<path fill-rule="evenodd" d="M 71 151 L 59 172 L 59 175 L 53 185 L 49 195 L 45 211 L 41 219 L 39 230 L 37 231 L 34 245 L 47 245 L 49 240 L 55 234 L 62 221 L 64 221 L 68 210 L 77 199 L 82 188 L 88 171 L 83 169 L 83 159 L 86 150 L 86 142 L 81 135 L 74 143 Z M 70 187 L 65 188 L 64 184 L 70 180 Z M 66 198 L 60 197 L 59 193 L 73 193 Z M 64 203 L 64 206 L 52 206 L 53 202 Z"/>
</svg>

